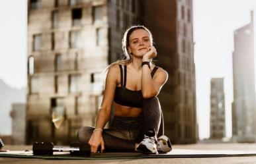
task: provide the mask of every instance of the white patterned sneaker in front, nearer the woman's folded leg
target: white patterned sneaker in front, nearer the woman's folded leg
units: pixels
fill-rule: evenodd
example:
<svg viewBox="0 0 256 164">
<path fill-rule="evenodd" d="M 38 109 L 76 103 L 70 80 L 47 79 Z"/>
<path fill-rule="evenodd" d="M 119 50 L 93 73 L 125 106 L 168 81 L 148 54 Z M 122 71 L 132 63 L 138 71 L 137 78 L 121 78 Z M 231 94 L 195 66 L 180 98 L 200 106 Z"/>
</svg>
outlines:
<svg viewBox="0 0 256 164">
<path fill-rule="evenodd" d="M 157 137 L 155 135 L 155 130 L 150 128 L 144 135 L 144 139 L 140 144 L 138 144 L 137 150 L 144 153 L 158 153 L 157 152 Z"/>
</svg>

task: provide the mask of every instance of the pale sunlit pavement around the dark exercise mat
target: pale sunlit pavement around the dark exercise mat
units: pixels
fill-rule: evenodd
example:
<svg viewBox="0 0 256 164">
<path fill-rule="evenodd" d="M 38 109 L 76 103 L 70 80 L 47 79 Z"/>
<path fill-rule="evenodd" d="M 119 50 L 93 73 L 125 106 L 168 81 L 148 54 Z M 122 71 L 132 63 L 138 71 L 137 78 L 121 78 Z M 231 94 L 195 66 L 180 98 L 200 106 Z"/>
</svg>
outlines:
<svg viewBox="0 0 256 164">
<path fill-rule="evenodd" d="M 32 146 L 5 146 L 7 150 L 32 150 Z M 243 151 L 256 151 L 256 144 L 188 144 L 188 145 L 173 145 L 173 149 L 184 149 L 184 150 L 243 150 Z M 59 159 L 29 159 L 29 158 L 11 158 L 11 157 L 0 157 L 1 163 L 36 163 L 36 164 L 48 164 L 48 163 L 142 163 L 142 164 L 161 164 L 161 163 L 172 163 L 172 164 L 206 164 L 206 163 L 243 163 L 243 164 L 256 164 L 256 156 L 251 157 L 201 157 L 201 158 L 160 158 L 160 159 L 105 159 L 105 160 L 59 160 Z"/>
</svg>

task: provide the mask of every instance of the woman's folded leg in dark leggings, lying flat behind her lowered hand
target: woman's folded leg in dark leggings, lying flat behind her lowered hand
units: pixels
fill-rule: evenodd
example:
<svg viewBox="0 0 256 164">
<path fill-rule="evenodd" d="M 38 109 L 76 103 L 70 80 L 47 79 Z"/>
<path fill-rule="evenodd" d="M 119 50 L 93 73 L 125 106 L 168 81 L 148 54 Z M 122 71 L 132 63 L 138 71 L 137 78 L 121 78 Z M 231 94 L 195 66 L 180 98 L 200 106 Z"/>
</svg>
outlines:
<svg viewBox="0 0 256 164">
<path fill-rule="evenodd" d="M 95 128 L 91 126 L 83 126 L 77 131 L 77 139 L 83 144 L 87 144 L 93 134 Z M 105 143 L 104 151 L 134 151 L 134 140 L 124 140 L 111 134 L 118 134 L 116 130 L 103 129 L 103 140 Z"/>
</svg>

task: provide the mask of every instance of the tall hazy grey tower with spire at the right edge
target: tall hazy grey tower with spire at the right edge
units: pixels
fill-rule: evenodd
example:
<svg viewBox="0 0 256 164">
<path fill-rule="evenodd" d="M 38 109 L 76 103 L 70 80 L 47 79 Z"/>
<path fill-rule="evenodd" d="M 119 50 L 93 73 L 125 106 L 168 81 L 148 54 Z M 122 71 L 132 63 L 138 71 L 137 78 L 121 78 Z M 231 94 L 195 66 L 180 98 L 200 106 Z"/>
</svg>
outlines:
<svg viewBox="0 0 256 164">
<path fill-rule="evenodd" d="M 251 22 L 234 32 L 232 136 L 237 142 L 255 142 L 255 72 L 253 11 Z"/>
</svg>

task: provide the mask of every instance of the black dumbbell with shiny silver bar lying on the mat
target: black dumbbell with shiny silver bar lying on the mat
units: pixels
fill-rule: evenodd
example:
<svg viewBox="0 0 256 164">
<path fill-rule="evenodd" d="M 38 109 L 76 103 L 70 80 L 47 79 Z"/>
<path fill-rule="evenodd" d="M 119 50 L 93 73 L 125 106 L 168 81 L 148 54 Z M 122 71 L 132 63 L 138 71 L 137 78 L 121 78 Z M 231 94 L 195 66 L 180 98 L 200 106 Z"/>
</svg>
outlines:
<svg viewBox="0 0 256 164">
<path fill-rule="evenodd" d="M 32 146 L 34 155 L 53 155 L 55 151 L 69 152 L 70 155 L 85 155 L 91 154 L 89 144 L 72 143 L 70 147 L 56 147 L 52 142 L 36 142 Z"/>
</svg>

